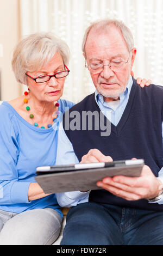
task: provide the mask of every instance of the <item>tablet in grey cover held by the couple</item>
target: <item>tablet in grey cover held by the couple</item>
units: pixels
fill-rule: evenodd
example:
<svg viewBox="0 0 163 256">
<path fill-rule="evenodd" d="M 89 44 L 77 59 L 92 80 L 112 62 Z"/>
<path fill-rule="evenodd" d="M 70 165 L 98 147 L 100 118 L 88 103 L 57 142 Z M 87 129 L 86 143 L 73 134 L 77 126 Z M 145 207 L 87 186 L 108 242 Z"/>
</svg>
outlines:
<svg viewBox="0 0 163 256">
<path fill-rule="evenodd" d="M 108 163 L 81 163 L 63 166 L 39 166 L 35 180 L 45 193 L 87 191 L 101 189 L 97 181 L 107 176 L 140 176 L 143 159 Z"/>
</svg>

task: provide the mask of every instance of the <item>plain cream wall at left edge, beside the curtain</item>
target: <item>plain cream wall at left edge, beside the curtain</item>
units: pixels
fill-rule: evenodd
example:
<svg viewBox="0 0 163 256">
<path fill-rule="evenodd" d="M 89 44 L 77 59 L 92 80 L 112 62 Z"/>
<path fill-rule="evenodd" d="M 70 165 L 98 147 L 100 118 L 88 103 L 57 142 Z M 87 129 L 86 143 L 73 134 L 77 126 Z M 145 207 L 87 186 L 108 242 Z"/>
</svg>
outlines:
<svg viewBox="0 0 163 256">
<path fill-rule="evenodd" d="M 14 99 L 21 92 L 11 68 L 12 51 L 20 37 L 18 21 L 19 0 L 0 0 L 0 100 Z"/>
</svg>

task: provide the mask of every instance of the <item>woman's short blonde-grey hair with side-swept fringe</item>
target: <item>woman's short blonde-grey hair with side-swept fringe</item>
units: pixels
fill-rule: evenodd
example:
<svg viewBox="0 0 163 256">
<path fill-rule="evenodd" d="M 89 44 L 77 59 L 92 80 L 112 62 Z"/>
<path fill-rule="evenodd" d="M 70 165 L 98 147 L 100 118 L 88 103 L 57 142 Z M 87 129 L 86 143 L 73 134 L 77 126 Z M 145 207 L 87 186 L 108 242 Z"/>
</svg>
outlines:
<svg viewBox="0 0 163 256">
<path fill-rule="evenodd" d="M 68 65 L 70 50 L 67 44 L 52 33 L 34 33 L 21 40 L 15 47 L 12 69 L 16 80 L 27 84 L 26 72 L 34 72 L 47 65 L 55 53 L 61 54 Z"/>
</svg>

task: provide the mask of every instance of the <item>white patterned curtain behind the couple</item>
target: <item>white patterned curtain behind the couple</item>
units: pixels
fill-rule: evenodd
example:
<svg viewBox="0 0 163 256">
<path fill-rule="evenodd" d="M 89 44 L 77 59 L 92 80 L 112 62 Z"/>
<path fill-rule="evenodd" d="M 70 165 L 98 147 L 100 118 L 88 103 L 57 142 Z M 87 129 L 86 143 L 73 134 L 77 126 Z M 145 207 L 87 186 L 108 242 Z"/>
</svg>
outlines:
<svg viewBox="0 0 163 256">
<path fill-rule="evenodd" d="M 20 0 L 21 36 L 51 31 L 70 47 L 71 70 L 62 98 L 79 102 L 94 92 L 84 68 L 82 40 L 92 21 L 106 17 L 124 21 L 133 32 L 137 56 L 135 77 L 151 78 L 163 84 L 162 0 Z"/>
</svg>

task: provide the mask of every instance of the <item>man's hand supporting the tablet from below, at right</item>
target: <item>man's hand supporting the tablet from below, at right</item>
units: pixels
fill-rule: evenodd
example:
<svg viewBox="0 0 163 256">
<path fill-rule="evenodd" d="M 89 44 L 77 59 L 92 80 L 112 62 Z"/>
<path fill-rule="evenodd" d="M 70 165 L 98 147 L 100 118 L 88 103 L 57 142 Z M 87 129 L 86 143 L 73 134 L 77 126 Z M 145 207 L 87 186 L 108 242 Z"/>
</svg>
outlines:
<svg viewBox="0 0 163 256">
<path fill-rule="evenodd" d="M 143 166 L 141 176 L 114 176 L 98 181 L 97 186 L 126 200 L 152 199 L 162 191 L 162 183 L 148 166 Z"/>
</svg>

